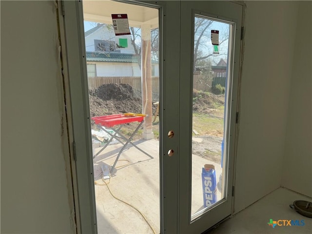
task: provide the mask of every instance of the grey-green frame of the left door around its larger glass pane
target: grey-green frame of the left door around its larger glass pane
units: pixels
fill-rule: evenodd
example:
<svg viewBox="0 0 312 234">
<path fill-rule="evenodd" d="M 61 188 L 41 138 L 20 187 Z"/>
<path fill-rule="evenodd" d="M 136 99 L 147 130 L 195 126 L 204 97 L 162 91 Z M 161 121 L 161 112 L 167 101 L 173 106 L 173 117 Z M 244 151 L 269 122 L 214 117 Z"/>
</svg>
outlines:
<svg viewBox="0 0 312 234">
<path fill-rule="evenodd" d="M 178 117 L 183 97 L 179 97 L 183 89 L 180 85 L 180 2 L 179 1 L 122 1 L 125 3 L 143 4 L 159 8 L 160 28 L 160 230 L 161 233 L 182 233 L 183 212 L 188 197 L 185 200 L 181 193 L 181 176 L 179 168 L 179 140 L 183 132 L 179 130 L 182 124 Z M 145 3 L 143 3 L 145 2 Z M 63 58 L 67 61 L 64 67 L 68 75 L 68 84 L 65 84 L 70 144 L 75 158 L 72 170 L 74 176 L 75 206 L 78 220 L 78 233 L 97 233 L 97 218 L 93 176 L 91 126 L 88 97 L 88 83 L 86 71 L 83 11 L 82 1 L 61 1 L 63 24 L 65 32 L 62 45 Z M 60 20 L 62 21 L 62 20 Z M 162 27 L 162 29 L 161 29 Z M 172 38 L 176 38 L 172 43 Z M 178 53 L 177 53 L 178 52 Z M 239 62 L 238 62 L 239 63 Z M 66 62 L 65 62 L 66 64 Z M 238 81 L 237 81 L 238 82 Z M 236 91 L 237 92 L 237 89 Z M 165 101 L 170 100 L 170 101 Z M 233 108 L 236 105 L 233 106 Z M 183 106 L 181 107 L 183 108 Z M 181 126 L 180 126 L 181 127 Z M 175 137 L 168 138 L 169 131 L 175 132 Z M 169 149 L 173 149 L 174 156 L 168 156 Z M 163 176 L 170 175 L 170 176 Z M 180 197 L 180 198 L 179 198 Z M 181 199 L 182 198 L 182 199 Z M 182 206 L 184 204 L 184 206 Z M 178 208 L 180 207 L 180 208 Z M 169 221 L 170 220 L 170 221 Z M 203 219 L 202 219 L 203 220 Z M 183 221 L 184 222 L 184 221 Z M 187 225 L 189 222 L 187 222 Z M 189 227 L 187 227 L 189 228 Z M 209 228 L 209 226 L 207 227 Z M 206 228 L 206 229 L 207 229 Z M 188 229 L 187 229 L 188 230 Z M 184 230 L 184 231 L 187 231 Z M 202 228 L 198 229 L 202 230 Z M 205 231 L 205 230 L 203 230 Z"/>
</svg>

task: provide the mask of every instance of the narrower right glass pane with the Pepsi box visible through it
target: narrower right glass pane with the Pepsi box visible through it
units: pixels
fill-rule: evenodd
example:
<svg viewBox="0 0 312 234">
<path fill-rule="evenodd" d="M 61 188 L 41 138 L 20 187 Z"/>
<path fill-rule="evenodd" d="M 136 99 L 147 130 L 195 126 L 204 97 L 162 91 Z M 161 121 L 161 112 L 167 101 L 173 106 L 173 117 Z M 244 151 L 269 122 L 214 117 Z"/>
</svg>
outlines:
<svg viewBox="0 0 312 234">
<path fill-rule="evenodd" d="M 192 220 L 225 198 L 232 24 L 195 15 Z"/>
</svg>

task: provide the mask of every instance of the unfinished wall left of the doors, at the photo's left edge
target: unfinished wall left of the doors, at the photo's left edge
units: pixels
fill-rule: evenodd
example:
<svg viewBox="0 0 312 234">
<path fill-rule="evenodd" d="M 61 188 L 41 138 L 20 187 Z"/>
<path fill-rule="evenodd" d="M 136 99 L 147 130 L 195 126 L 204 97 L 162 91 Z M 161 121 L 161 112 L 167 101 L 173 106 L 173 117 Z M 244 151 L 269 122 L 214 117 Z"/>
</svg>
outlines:
<svg viewBox="0 0 312 234">
<path fill-rule="evenodd" d="M 1 233 L 69 234 L 56 5 L 0 4 Z"/>
</svg>

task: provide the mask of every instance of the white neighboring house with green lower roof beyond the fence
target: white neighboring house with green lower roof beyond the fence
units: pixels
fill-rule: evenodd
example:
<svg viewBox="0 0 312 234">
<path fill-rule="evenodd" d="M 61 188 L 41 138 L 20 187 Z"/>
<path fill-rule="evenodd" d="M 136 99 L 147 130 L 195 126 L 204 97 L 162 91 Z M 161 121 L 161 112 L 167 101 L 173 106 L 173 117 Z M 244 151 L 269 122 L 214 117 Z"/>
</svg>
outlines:
<svg viewBox="0 0 312 234">
<path fill-rule="evenodd" d="M 130 35 L 115 36 L 111 25 L 100 24 L 85 32 L 88 77 L 139 77 L 140 57 Z M 152 76 L 159 76 L 158 61 L 152 60 Z"/>
</svg>

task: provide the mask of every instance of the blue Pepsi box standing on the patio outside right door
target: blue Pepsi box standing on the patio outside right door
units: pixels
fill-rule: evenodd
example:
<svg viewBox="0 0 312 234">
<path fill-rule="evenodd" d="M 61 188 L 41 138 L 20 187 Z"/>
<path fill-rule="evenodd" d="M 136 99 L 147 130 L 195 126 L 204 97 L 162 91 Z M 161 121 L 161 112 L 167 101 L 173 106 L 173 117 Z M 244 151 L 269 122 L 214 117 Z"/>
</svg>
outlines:
<svg viewBox="0 0 312 234">
<path fill-rule="evenodd" d="M 204 207 L 209 207 L 216 202 L 215 165 L 205 164 L 202 169 Z"/>
</svg>

